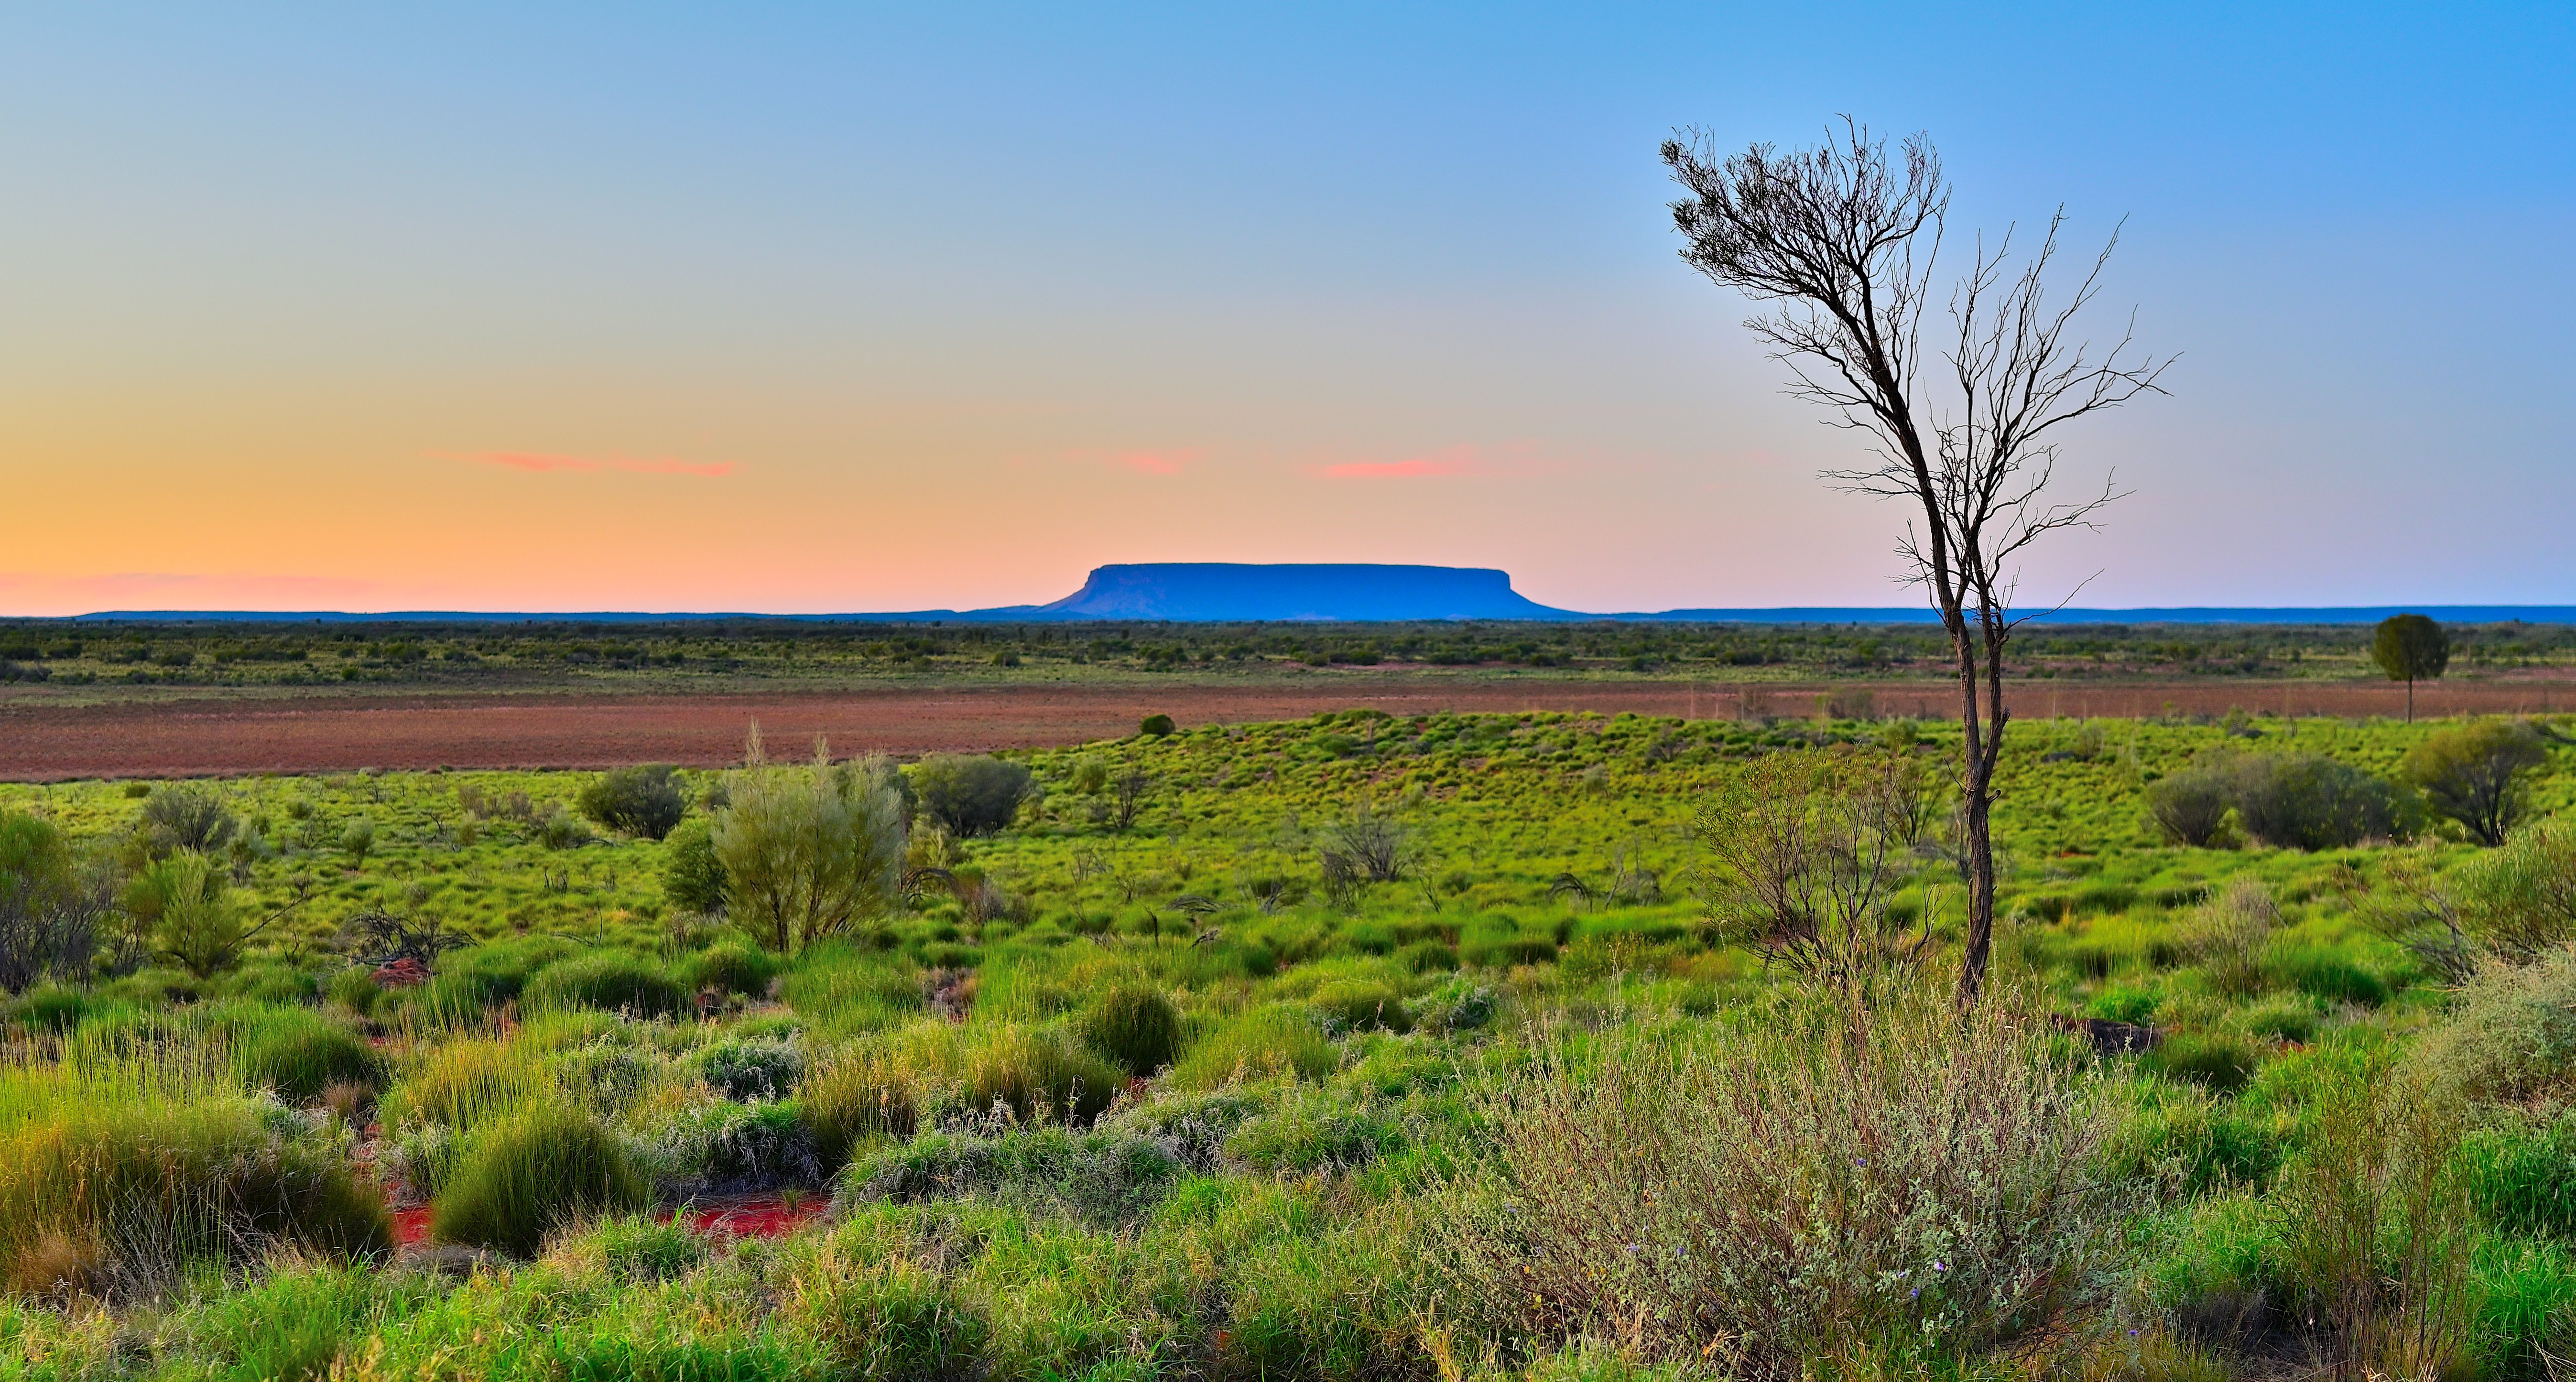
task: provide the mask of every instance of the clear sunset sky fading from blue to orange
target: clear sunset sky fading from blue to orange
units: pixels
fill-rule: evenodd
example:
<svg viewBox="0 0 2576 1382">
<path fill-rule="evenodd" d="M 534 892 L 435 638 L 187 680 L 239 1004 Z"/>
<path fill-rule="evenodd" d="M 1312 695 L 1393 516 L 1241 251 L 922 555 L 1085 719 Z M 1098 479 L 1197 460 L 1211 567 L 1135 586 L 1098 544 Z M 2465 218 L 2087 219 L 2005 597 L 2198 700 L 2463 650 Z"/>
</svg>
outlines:
<svg viewBox="0 0 2576 1382">
<path fill-rule="evenodd" d="M 2179 355 L 2025 597 L 2576 602 L 2568 5 L 100 3 L 0 15 L 0 613 L 1904 605 L 1656 160 L 1842 113 Z"/>
</svg>

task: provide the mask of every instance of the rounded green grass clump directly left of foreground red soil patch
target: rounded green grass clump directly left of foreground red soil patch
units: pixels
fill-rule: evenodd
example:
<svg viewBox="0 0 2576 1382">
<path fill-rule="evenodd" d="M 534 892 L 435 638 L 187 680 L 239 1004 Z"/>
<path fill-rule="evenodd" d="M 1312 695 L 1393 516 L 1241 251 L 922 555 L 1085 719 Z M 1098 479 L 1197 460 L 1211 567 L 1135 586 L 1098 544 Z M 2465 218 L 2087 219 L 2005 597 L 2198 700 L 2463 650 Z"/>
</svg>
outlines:
<svg viewBox="0 0 2576 1382">
<path fill-rule="evenodd" d="M 446 1243 L 531 1258 L 572 1222 L 641 1212 L 652 1202 L 626 1148 L 595 1117 L 526 1104 L 474 1132 L 430 1207 Z"/>
</svg>

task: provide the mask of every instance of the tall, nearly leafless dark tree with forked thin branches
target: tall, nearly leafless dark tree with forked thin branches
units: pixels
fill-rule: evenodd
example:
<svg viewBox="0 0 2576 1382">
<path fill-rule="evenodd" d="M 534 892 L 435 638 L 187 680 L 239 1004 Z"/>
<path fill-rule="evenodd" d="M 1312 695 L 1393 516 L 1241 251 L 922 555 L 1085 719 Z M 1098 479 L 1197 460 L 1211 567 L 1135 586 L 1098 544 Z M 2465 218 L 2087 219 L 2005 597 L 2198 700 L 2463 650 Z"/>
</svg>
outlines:
<svg viewBox="0 0 2576 1382">
<path fill-rule="evenodd" d="M 2117 232 L 2074 293 L 2053 301 L 2063 211 L 2035 255 L 2012 268 L 2012 234 L 1976 242 L 1950 291 L 1947 345 L 1924 353 L 1924 309 L 1950 211 L 1940 154 L 1922 134 L 1888 162 L 1883 139 L 1850 118 L 1814 149 L 1754 144 L 1723 154 L 1703 131 L 1664 144 L 1690 193 L 1672 203 L 1682 260 L 1765 304 L 1749 319 L 1790 368 L 1790 396 L 1826 407 L 1870 440 L 1868 466 L 1826 471 L 1857 494 L 1906 499 L 1899 553 L 1924 587 L 1958 667 L 1960 824 L 1968 854 L 1968 944 L 1958 993 L 1973 1004 L 1994 944 L 1994 769 L 2004 751 L 2004 646 L 2020 625 L 2020 556 L 2063 528 L 2092 528 L 2117 492 L 2056 499 L 2056 432 L 2084 414 L 2161 394 L 2169 358 L 2133 355 L 2130 335 L 2102 355 L 2074 335 L 2099 291 Z"/>
</svg>

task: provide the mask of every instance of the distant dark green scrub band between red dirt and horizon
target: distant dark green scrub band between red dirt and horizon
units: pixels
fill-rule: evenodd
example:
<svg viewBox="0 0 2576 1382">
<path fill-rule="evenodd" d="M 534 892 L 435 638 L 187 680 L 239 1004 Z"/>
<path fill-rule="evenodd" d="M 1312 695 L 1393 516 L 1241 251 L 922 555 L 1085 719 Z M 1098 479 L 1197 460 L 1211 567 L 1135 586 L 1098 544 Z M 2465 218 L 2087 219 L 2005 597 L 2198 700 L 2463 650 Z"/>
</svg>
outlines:
<svg viewBox="0 0 2576 1382">
<path fill-rule="evenodd" d="M 2576 628 L 2460 625 L 2452 674 L 2576 664 Z M 2030 625 L 2032 677 L 2372 677 L 2339 625 Z M 0 620 L 0 690 L 57 697 L 149 687 L 726 690 L 853 679 L 1283 677 L 1316 667 L 1448 674 L 1940 677 L 1924 625 L 1698 623 L 62 623 Z"/>
</svg>

